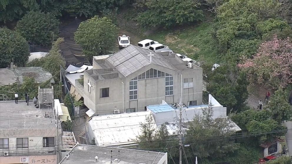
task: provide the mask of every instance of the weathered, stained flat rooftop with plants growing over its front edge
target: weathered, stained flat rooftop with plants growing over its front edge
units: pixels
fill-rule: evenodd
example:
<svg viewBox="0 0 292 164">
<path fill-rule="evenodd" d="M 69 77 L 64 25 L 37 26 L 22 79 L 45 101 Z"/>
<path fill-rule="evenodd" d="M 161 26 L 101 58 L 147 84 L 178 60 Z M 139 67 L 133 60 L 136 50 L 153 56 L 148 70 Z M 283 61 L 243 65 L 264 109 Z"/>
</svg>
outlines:
<svg viewBox="0 0 292 164">
<path fill-rule="evenodd" d="M 19 78 L 20 84 L 23 83 L 25 76 L 33 77 L 37 83 L 43 83 L 51 79 L 50 83 L 55 83 L 52 74 L 44 71 L 42 67 L 18 67 L 13 70 L 9 68 L 0 68 L 0 85 L 9 85 L 16 83 Z"/>
</svg>

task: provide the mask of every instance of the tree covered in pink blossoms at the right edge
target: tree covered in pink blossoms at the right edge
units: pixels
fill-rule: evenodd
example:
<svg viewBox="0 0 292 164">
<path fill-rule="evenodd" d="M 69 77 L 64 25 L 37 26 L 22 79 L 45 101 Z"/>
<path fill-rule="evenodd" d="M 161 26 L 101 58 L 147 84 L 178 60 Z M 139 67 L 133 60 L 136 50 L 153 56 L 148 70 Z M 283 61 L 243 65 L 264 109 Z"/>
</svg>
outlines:
<svg viewBox="0 0 292 164">
<path fill-rule="evenodd" d="M 292 41 L 290 38 L 263 42 L 252 59 L 238 64 L 251 83 L 270 88 L 284 88 L 292 83 Z"/>
</svg>

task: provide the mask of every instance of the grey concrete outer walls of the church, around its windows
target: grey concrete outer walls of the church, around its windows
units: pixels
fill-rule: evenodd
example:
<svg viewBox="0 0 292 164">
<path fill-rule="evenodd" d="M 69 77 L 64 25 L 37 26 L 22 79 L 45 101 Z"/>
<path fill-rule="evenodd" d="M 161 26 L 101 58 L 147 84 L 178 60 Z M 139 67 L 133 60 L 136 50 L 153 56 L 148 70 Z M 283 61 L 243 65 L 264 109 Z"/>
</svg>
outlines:
<svg viewBox="0 0 292 164">
<path fill-rule="evenodd" d="M 169 73 L 173 75 L 174 95 L 165 96 L 165 77 L 138 80 L 138 99 L 130 100 L 129 84 L 130 80 L 150 68 Z M 144 111 L 145 106 L 161 103 L 165 100 L 167 103 L 178 103 L 181 96 L 181 74 L 182 78 L 193 78 L 193 88 L 183 89 L 184 103 L 197 101 L 202 103 L 203 71 L 202 69 L 188 69 L 186 71 L 174 71 L 168 68 L 150 64 L 144 68 L 132 73 L 125 78 L 114 78 L 106 80 L 95 80 L 84 72 L 84 104 L 92 108 L 98 115 L 113 114 L 115 106 L 122 112 L 122 83 L 124 83 L 124 111 L 127 108 L 136 108 L 136 111 Z M 91 92 L 88 92 L 88 80 L 94 83 Z M 109 88 L 109 97 L 102 98 L 100 91 L 102 88 Z M 78 90 L 77 90 L 78 91 Z"/>
</svg>

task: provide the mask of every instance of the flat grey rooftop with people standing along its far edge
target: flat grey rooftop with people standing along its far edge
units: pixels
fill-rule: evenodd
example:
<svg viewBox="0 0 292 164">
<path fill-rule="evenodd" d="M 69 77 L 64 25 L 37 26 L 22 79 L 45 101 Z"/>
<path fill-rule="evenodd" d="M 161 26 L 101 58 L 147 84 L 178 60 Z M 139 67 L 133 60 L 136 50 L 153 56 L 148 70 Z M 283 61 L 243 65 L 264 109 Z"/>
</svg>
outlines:
<svg viewBox="0 0 292 164">
<path fill-rule="evenodd" d="M 45 114 L 49 114 L 47 118 Z M 54 119 L 51 109 L 35 108 L 33 102 L 27 106 L 25 101 L 0 101 L 0 129 L 49 128 Z"/>
</svg>

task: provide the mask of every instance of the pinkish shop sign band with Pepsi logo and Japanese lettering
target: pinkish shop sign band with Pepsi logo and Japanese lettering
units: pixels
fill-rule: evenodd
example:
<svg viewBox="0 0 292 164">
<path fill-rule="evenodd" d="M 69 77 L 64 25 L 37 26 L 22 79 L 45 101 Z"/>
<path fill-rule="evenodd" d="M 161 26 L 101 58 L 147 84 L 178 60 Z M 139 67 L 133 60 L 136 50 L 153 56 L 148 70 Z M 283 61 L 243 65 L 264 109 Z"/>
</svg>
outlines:
<svg viewBox="0 0 292 164">
<path fill-rule="evenodd" d="M 56 155 L 0 156 L 0 164 L 57 164 Z"/>
</svg>

